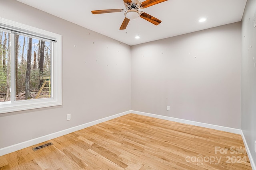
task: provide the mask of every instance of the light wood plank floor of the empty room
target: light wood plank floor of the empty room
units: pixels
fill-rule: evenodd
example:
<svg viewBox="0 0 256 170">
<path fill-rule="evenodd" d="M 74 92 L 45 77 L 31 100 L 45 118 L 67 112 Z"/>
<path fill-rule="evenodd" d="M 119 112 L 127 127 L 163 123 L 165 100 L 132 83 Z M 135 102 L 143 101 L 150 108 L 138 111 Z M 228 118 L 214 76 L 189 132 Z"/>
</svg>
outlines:
<svg viewBox="0 0 256 170">
<path fill-rule="evenodd" d="M 136 114 L 33 147 L 0 156 L 0 170 L 252 169 L 241 135 Z"/>
</svg>

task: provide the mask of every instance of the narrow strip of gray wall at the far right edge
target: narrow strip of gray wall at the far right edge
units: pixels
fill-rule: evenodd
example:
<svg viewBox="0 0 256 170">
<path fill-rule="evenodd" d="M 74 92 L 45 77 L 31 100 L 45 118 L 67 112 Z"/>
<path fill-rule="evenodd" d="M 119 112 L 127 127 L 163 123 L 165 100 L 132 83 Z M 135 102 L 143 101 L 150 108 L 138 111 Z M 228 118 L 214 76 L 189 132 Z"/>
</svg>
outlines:
<svg viewBox="0 0 256 170">
<path fill-rule="evenodd" d="M 242 131 L 254 162 L 256 141 L 256 1 L 247 0 L 242 18 Z"/>
</svg>

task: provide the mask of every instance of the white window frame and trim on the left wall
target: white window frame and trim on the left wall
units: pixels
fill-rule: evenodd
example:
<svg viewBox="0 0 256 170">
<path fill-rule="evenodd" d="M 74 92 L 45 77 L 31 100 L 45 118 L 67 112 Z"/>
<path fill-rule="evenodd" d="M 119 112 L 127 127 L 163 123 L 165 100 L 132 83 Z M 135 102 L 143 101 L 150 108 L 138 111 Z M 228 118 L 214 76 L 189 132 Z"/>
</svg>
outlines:
<svg viewBox="0 0 256 170">
<path fill-rule="evenodd" d="M 15 50 L 11 48 L 11 101 L 0 102 L 0 114 L 13 111 L 22 111 L 28 109 L 37 109 L 42 107 L 62 105 L 62 36 L 56 33 L 45 31 L 39 28 L 31 27 L 15 21 L 0 18 L 0 27 L 2 29 L 22 32 L 28 36 L 42 37 L 51 39 L 52 59 L 51 59 L 51 98 L 19 100 L 15 101 Z M 10 31 L 10 32 L 12 32 Z M 15 47 L 15 37 L 11 37 L 11 46 Z"/>
</svg>

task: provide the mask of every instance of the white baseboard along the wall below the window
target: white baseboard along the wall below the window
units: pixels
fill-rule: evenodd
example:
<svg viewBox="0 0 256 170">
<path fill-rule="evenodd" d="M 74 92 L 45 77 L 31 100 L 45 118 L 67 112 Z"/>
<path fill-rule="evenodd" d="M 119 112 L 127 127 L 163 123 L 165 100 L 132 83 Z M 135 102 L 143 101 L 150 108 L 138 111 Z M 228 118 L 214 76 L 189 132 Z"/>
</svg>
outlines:
<svg viewBox="0 0 256 170">
<path fill-rule="evenodd" d="M 84 129 L 86 127 L 90 127 L 90 126 L 102 123 L 104 121 L 108 121 L 108 120 L 120 117 L 122 115 L 126 115 L 128 113 L 131 113 L 131 112 L 130 111 L 125 111 L 123 113 L 118 113 L 116 115 L 112 115 L 112 116 L 109 116 L 109 117 L 98 119 L 96 121 L 88 122 L 88 123 L 85 123 L 83 125 L 78 125 L 76 127 L 71 127 L 69 129 L 58 131 L 56 133 L 51 133 L 49 135 L 45 135 L 45 136 L 42 136 L 42 137 L 31 139 L 29 141 L 25 141 L 25 142 L 22 142 L 22 143 L 18 143 L 18 144 L 15 144 L 15 145 L 11 145 L 11 146 L 8 146 L 8 147 L 1 148 L 0 149 L 0 156 L 11 153 L 11 152 L 15 152 L 15 151 L 20 150 L 20 149 L 24 149 L 26 147 L 36 145 L 38 143 L 42 143 L 42 142 L 54 139 L 56 137 L 60 137 L 60 136 L 67 135 L 67 134 L 75 132 L 75 131 L 79 131 L 79 130 Z"/>
</svg>

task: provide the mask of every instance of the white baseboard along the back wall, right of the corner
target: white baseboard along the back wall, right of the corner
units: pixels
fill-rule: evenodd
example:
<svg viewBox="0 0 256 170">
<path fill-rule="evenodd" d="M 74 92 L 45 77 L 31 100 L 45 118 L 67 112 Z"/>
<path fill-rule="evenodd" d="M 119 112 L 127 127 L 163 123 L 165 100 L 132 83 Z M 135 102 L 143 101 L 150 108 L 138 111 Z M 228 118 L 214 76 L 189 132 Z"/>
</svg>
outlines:
<svg viewBox="0 0 256 170">
<path fill-rule="evenodd" d="M 201 123 L 201 122 L 190 121 L 190 120 L 185 120 L 185 119 L 178 119 L 178 118 L 174 118 L 174 117 L 156 115 L 156 114 L 152 114 L 152 113 L 145 113 L 145 112 L 141 112 L 141 111 L 132 110 L 131 112 L 135 113 L 135 114 L 138 114 L 138 115 L 155 117 L 155 118 L 158 118 L 158 119 L 175 121 L 175 122 L 179 122 L 179 123 L 185 123 L 185 124 L 188 124 L 188 125 L 206 127 L 206 128 L 210 128 L 210 129 L 215 129 L 215 130 L 219 130 L 219 131 L 225 131 L 225 132 L 230 132 L 230 133 L 235 133 L 235 134 L 241 135 L 241 129 L 235 129 L 235 128 L 224 127 L 224 126 L 219 126 L 219 125 L 212 125 L 212 124 L 208 124 L 208 123 Z"/>
</svg>

